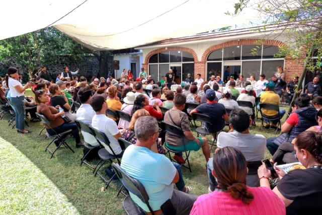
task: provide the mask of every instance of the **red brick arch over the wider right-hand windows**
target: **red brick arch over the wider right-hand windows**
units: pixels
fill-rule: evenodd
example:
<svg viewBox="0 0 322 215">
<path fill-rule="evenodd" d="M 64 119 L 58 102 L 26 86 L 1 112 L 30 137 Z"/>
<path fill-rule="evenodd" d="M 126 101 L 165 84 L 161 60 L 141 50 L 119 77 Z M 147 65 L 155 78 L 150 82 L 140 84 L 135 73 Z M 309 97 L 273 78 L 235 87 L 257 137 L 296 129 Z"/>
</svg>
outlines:
<svg viewBox="0 0 322 215">
<path fill-rule="evenodd" d="M 241 39 L 241 40 L 232 40 L 224 43 L 220 43 L 214 46 L 211 46 L 207 48 L 207 50 L 203 53 L 201 61 L 206 61 L 208 55 L 220 48 L 225 48 L 229 46 L 234 46 L 234 45 L 254 45 L 258 43 L 258 39 Z M 274 46 L 279 46 L 279 45 L 285 45 L 285 43 L 278 41 L 278 40 L 263 40 L 263 45 L 274 45 Z"/>
</svg>

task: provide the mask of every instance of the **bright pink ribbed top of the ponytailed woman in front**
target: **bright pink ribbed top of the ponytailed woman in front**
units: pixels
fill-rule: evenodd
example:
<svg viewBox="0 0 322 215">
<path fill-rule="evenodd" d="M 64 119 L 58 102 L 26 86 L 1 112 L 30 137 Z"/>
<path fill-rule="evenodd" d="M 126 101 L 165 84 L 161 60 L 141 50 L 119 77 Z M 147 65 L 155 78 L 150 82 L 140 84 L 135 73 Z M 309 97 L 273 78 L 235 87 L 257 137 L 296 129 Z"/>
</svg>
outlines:
<svg viewBox="0 0 322 215">
<path fill-rule="evenodd" d="M 284 215 L 285 204 L 268 187 L 247 187 L 254 195 L 250 204 L 234 199 L 228 192 L 213 191 L 201 195 L 193 204 L 190 215 Z"/>
</svg>

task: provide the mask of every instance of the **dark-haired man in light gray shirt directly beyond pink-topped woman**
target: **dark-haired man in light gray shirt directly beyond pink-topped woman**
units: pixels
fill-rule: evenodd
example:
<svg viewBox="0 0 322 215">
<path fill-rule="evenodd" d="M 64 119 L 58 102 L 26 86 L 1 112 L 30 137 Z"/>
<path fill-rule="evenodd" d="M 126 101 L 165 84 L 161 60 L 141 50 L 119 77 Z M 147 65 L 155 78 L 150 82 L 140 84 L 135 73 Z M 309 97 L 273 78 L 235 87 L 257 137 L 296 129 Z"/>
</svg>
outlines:
<svg viewBox="0 0 322 215">
<path fill-rule="evenodd" d="M 248 113 L 243 109 L 234 109 L 229 115 L 228 133 L 220 132 L 217 137 L 217 149 L 224 147 L 233 147 L 239 150 L 246 158 L 247 162 L 262 161 L 264 159 L 266 138 L 261 134 L 252 134 L 249 132 L 249 126 L 252 123 Z M 216 150 L 217 151 L 217 150 Z M 217 182 L 211 174 L 212 158 L 207 162 L 209 191 L 213 191 Z M 259 186 L 258 175 L 248 175 L 246 183 L 250 187 Z"/>
</svg>

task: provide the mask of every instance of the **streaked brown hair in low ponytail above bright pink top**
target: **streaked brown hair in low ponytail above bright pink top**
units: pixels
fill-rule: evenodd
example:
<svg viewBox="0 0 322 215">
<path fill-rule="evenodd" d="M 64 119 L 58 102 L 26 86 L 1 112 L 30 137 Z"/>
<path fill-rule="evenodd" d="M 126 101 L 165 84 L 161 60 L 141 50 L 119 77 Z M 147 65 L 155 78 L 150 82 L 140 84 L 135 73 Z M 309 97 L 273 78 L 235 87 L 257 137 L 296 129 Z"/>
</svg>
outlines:
<svg viewBox="0 0 322 215">
<path fill-rule="evenodd" d="M 254 195 L 246 187 L 247 162 L 243 153 L 232 147 L 219 149 L 213 155 L 213 171 L 220 189 L 243 203 L 253 201 Z"/>
</svg>

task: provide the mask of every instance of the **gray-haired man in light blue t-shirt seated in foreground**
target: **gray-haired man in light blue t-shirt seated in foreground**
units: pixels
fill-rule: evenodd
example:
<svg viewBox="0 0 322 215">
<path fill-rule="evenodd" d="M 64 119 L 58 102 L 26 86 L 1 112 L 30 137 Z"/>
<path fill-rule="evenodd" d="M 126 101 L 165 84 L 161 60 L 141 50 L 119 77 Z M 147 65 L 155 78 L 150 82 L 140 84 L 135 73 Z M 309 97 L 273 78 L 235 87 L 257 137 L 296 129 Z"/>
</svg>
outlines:
<svg viewBox="0 0 322 215">
<path fill-rule="evenodd" d="M 122 157 L 121 168 L 137 179 L 149 196 L 149 204 L 154 214 L 162 213 L 160 207 L 171 200 L 177 214 L 189 214 L 197 196 L 188 194 L 191 187 L 186 187 L 180 166 L 172 163 L 166 156 L 158 154 L 156 139 L 161 131 L 152 116 L 139 117 L 134 125 L 136 144 L 129 146 Z M 178 190 L 173 188 L 176 183 Z M 179 191 L 181 190 L 181 191 Z M 133 201 L 146 212 L 150 212 L 136 195 L 130 193 Z"/>
</svg>

